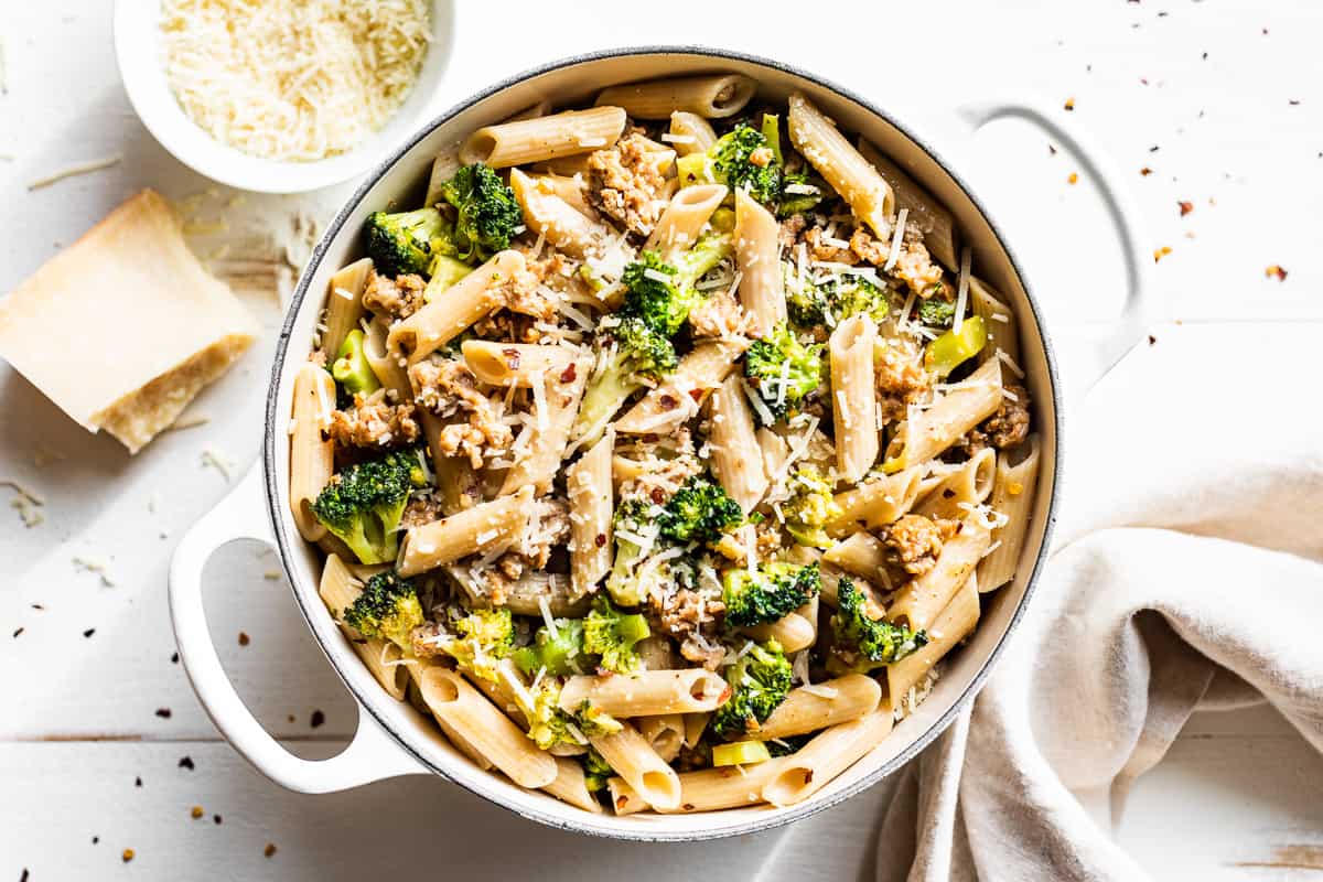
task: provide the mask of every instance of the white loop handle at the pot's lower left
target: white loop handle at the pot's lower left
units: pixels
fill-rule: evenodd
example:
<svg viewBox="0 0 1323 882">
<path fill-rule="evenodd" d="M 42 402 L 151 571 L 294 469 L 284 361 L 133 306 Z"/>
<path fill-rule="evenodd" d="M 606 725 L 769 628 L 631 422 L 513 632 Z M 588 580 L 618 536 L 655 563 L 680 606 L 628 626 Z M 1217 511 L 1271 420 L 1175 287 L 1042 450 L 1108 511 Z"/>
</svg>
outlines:
<svg viewBox="0 0 1323 882">
<path fill-rule="evenodd" d="M 324 760 L 302 759 L 288 752 L 253 717 L 221 666 L 202 606 L 206 562 L 217 549 L 234 540 L 274 545 L 261 464 L 254 464 L 229 496 L 184 536 L 169 569 L 169 610 L 180 660 L 202 709 L 226 741 L 259 772 L 302 793 L 329 793 L 385 778 L 427 772 L 361 706 L 353 741 Z"/>
</svg>

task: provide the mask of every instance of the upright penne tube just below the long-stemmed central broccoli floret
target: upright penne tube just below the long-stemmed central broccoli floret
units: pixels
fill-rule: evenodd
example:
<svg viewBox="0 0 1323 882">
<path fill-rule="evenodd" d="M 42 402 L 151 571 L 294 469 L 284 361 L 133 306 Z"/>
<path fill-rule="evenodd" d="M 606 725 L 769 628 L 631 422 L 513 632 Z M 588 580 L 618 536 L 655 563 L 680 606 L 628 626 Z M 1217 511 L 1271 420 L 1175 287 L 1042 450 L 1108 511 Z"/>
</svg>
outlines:
<svg viewBox="0 0 1323 882">
<path fill-rule="evenodd" d="M 570 578 L 577 594 L 589 594 L 611 569 L 615 485 L 611 483 L 610 428 L 565 471 L 570 501 Z"/>
</svg>

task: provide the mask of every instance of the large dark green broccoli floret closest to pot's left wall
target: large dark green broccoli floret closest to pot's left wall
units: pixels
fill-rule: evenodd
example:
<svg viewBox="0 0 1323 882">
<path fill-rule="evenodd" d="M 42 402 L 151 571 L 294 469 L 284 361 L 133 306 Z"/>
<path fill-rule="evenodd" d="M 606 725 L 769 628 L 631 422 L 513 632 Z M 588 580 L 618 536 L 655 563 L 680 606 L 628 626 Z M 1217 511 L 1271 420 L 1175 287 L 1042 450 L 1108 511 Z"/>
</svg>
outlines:
<svg viewBox="0 0 1323 882">
<path fill-rule="evenodd" d="M 417 450 L 392 451 L 333 476 L 312 513 L 360 562 L 389 563 L 400 550 L 397 530 L 409 493 L 426 484 Z"/>
</svg>

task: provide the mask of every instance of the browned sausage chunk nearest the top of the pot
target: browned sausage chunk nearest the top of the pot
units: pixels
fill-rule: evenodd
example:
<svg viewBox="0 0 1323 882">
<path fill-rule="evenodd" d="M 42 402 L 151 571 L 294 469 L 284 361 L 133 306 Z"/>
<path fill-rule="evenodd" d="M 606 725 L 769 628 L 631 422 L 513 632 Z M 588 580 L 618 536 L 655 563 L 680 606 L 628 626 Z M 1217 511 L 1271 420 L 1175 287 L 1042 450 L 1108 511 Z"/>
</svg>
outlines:
<svg viewBox="0 0 1323 882">
<path fill-rule="evenodd" d="M 589 198 L 620 226 L 648 235 L 665 209 L 667 181 L 651 141 L 638 134 L 589 155 Z"/>
</svg>

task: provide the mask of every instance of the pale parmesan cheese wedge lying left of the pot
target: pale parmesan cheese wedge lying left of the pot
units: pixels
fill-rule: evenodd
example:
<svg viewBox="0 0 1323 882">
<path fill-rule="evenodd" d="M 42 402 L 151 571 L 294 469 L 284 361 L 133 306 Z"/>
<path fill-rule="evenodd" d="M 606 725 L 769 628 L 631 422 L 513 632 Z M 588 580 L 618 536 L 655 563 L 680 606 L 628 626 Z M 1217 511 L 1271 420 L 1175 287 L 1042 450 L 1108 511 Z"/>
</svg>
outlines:
<svg viewBox="0 0 1323 882">
<path fill-rule="evenodd" d="M 243 354 L 257 321 L 143 190 L 0 301 L 0 357 L 136 454 Z"/>
</svg>

